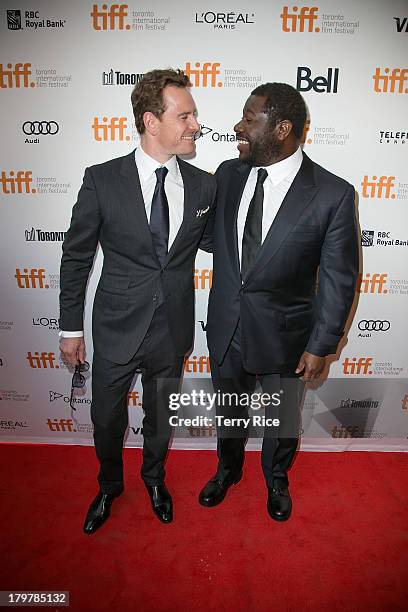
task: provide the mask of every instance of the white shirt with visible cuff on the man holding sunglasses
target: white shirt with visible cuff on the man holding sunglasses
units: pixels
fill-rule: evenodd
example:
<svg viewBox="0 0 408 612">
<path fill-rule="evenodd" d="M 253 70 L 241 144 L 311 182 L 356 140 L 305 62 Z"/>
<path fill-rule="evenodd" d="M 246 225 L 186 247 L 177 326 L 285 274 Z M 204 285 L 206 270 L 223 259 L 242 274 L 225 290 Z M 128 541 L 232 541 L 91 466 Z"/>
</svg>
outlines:
<svg viewBox="0 0 408 612">
<path fill-rule="evenodd" d="M 169 245 L 174 242 L 175 237 L 181 227 L 184 213 L 184 184 L 177 158 L 175 155 L 171 157 L 165 164 L 147 155 L 138 147 L 135 151 L 135 162 L 139 173 L 140 187 L 142 189 L 143 201 L 146 209 L 146 217 L 150 223 L 150 213 L 152 210 L 152 199 L 154 188 L 156 187 L 157 177 L 155 170 L 165 166 L 168 169 L 164 182 L 164 191 L 166 192 L 167 202 L 169 204 Z M 61 338 L 80 338 L 84 335 L 83 331 L 63 331 L 59 333 Z"/>
</svg>

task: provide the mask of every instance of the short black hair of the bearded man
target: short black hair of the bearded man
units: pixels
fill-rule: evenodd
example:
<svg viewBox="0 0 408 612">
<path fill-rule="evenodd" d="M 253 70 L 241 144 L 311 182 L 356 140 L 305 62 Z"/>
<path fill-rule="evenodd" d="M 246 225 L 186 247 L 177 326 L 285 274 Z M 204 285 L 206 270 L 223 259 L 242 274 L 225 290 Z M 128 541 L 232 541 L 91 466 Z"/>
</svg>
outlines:
<svg viewBox="0 0 408 612">
<path fill-rule="evenodd" d="M 297 89 L 287 83 L 264 83 L 251 91 L 251 96 L 265 96 L 265 110 L 273 126 L 287 119 L 293 125 L 295 136 L 301 138 L 307 111 L 305 101 Z"/>
</svg>

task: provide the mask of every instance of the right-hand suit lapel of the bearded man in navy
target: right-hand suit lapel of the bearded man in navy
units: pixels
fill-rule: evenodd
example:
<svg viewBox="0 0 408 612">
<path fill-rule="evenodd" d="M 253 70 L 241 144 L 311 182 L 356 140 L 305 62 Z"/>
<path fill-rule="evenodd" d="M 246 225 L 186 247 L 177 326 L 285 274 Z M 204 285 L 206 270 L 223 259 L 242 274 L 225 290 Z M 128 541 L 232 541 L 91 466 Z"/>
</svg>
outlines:
<svg viewBox="0 0 408 612">
<path fill-rule="evenodd" d="M 300 170 L 269 228 L 245 282 L 248 282 L 252 276 L 257 274 L 276 254 L 301 214 L 309 206 L 318 189 L 314 181 L 313 162 L 306 154 L 303 154 Z"/>
</svg>

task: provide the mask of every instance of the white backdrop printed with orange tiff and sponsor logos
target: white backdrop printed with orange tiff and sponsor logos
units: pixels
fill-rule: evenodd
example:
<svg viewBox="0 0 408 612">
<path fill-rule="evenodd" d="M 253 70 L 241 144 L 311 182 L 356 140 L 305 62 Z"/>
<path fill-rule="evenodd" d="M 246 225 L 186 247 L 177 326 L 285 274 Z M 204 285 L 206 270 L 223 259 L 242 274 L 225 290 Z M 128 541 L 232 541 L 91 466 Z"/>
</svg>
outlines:
<svg viewBox="0 0 408 612">
<path fill-rule="evenodd" d="M 347 339 L 327 380 L 306 394 L 302 448 L 406 450 L 406 2 L 13 0 L 1 2 L 0 28 L 1 440 L 92 444 L 92 370 L 72 411 L 72 372 L 58 348 L 61 245 L 85 167 L 137 146 L 132 87 L 148 70 L 171 66 L 190 76 L 202 124 L 191 163 L 210 172 L 237 156 L 233 126 L 253 88 L 287 82 L 304 96 L 305 151 L 356 188 L 361 273 Z M 101 262 L 98 252 L 86 299 L 89 361 Z M 209 390 L 211 280 L 212 258 L 200 252 L 185 390 Z M 140 446 L 137 379 L 128 404 L 126 444 Z M 252 433 L 249 448 L 259 448 Z M 215 430 L 202 420 L 173 441 L 214 445 Z"/>
</svg>

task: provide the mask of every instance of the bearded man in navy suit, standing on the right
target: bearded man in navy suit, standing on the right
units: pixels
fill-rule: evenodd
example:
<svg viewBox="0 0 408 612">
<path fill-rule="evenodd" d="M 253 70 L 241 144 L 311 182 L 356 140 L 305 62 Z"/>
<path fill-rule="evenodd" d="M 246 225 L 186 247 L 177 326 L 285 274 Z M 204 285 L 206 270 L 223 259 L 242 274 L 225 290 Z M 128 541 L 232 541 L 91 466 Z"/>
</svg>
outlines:
<svg viewBox="0 0 408 612">
<path fill-rule="evenodd" d="M 304 381 L 318 378 L 344 334 L 358 273 L 354 189 L 300 148 L 306 121 L 293 87 L 266 83 L 235 126 L 239 159 L 216 172 L 214 275 L 207 323 L 214 387 L 250 394 L 256 381 L 280 404 L 265 416 L 267 509 L 287 520 L 288 468 L 298 444 Z M 318 288 L 316 283 L 318 280 Z M 242 418 L 237 401 L 218 415 Z M 272 421 L 273 419 L 271 419 Z M 243 423 L 243 421 L 242 421 Z M 215 506 L 242 476 L 247 428 L 218 428 L 218 468 L 200 493 Z"/>
</svg>

